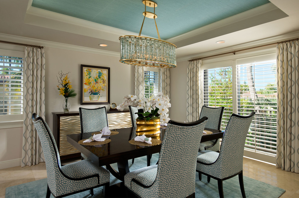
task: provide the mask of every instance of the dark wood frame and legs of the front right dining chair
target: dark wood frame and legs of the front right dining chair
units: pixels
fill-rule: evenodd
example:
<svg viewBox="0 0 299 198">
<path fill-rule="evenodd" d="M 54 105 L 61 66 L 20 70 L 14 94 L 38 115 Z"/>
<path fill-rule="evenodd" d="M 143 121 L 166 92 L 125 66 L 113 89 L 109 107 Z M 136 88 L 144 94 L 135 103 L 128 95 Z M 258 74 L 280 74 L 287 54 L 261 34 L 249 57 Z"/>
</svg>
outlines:
<svg viewBox="0 0 299 198">
<path fill-rule="evenodd" d="M 248 116 L 241 116 L 241 115 L 237 115 L 237 114 L 233 113 L 231 117 L 236 116 L 236 117 L 240 117 L 240 118 L 249 118 L 249 117 L 252 117 L 254 114 L 255 114 L 255 112 L 251 112 Z M 221 150 L 221 146 L 220 146 L 220 150 Z M 218 158 L 219 158 L 219 156 L 218 156 Z M 218 158 L 217 158 L 217 160 L 218 160 Z M 197 161 L 197 163 L 204 164 L 204 165 L 212 165 L 212 164 L 216 163 L 216 161 L 214 161 L 211 164 L 206 164 L 206 163 L 203 163 L 203 162 L 200 162 L 200 161 Z M 236 174 L 234 174 L 234 175 L 232 175 L 232 176 L 230 176 L 230 177 L 226 177 L 226 178 L 223 178 L 223 179 L 219 179 L 217 177 L 211 176 L 209 174 L 203 173 L 203 172 L 198 171 L 198 170 L 196 170 L 196 171 L 198 172 L 198 179 L 199 180 L 201 180 L 201 174 L 204 174 L 204 175 L 207 176 L 207 181 L 208 182 L 210 182 L 211 177 L 213 179 L 217 180 L 217 182 L 218 182 L 218 191 L 219 191 L 219 197 L 220 198 L 224 197 L 223 196 L 223 185 L 222 185 L 222 181 L 230 179 L 230 178 L 235 177 L 236 175 L 238 175 L 239 176 L 239 184 L 240 184 L 240 188 L 241 188 L 242 197 L 246 198 L 245 189 L 244 189 L 244 182 L 243 182 L 243 170 L 240 171 L 240 172 L 238 172 L 238 173 L 236 173 Z"/>
</svg>

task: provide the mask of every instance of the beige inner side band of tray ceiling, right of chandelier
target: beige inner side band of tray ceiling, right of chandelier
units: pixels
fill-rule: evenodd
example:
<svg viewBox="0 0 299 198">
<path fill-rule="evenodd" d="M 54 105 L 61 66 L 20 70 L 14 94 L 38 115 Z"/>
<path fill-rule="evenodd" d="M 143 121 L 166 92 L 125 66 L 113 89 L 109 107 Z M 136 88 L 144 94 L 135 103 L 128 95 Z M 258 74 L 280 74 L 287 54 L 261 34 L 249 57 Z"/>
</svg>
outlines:
<svg viewBox="0 0 299 198">
<path fill-rule="evenodd" d="M 181 34 L 177 37 L 167 39 L 166 41 L 174 43 L 177 47 L 182 47 L 270 21 L 275 21 L 287 16 L 287 14 L 275 5 L 268 3 L 196 30 L 192 30 L 188 33 Z"/>
</svg>

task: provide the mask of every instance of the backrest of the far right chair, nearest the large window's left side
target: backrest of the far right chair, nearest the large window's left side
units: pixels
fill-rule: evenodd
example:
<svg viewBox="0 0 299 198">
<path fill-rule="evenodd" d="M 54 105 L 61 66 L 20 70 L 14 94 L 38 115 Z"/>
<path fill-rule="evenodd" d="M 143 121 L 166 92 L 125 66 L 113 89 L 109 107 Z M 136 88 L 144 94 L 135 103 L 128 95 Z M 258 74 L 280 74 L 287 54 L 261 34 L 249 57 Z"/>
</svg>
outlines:
<svg viewBox="0 0 299 198">
<path fill-rule="evenodd" d="M 202 106 L 199 119 L 207 117 L 206 128 L 220 130 L 221 119 L 224 107 L 206 107 Z"/>
</svg>

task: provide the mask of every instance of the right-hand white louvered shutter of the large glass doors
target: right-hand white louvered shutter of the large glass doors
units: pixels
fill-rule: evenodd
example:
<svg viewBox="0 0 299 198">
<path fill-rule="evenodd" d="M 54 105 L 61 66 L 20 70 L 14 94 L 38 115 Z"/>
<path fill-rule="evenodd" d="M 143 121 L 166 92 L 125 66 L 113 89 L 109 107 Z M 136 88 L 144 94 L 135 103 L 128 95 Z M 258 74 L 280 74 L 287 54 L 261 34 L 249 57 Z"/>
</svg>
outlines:
<svg viewBox="0 0 299 198">
<path fill-rule="evenodd" d="M 245 149 L 276 156 L 276 60 L 245 62 L 237 61 L 236 67 L 237 114 L 256 112 L 247 134 Z"/>
</svg>

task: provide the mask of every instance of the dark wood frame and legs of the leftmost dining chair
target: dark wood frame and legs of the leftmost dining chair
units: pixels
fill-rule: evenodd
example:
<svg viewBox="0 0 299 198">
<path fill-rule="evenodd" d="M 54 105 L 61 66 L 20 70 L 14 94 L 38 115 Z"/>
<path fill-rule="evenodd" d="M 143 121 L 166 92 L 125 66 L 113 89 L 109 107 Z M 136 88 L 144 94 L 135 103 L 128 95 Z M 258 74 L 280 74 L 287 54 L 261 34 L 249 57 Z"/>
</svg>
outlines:
<svg viewBox="0 0 299 198">
<path fill-rule="evenodd" d="M 56 151 L 56 149 L 55 149 L 54 140 L 52 139 L 52 137 L 51 137 L 51 135 L 50 135 L 50 131 L 49 131 L 49 130 L 47 129 L 47 127 L 46 127 L 47 125 L 46 125 L 45 121 L 43 120 L 42 117 L 37 117 L 37 114 L 36 114 L 36 113 L 33 113 L 33 114 L 32 114 L 32 120 L 33 120 L 34 122 L 36 122 L 37 120 L 41 120 L 41 121 L 43 122 L 43 125 L 45 126 L 45 128 L 46 128 L 46 130 L 47 130 L 47 133 L 48 133 L 48 135 L 49 135 L 49 137 L 50 137 L 50 140 L 51 140 L 51 142 L 52 142 L 52 145 L 53 145 L 53 148 L 54 148 L 54 151 L 55 151 L 56 160 L 58 161 L 58 155 L 57 155 L 57 151 Z M 58 164 L 58 163 L 57 163 L 57 164 Z M 72 177 L 69 177 L 69 176 L 67 176 L 66 174 L 64 174 L 59 166 L 58 166 L 58 169 L 59 169 L 60 173 L 61 173 L 64 177 L 66 177 L 67 179 L 69 179 L 69 180 L 79 181 L 79 180 L 89 179 L 89 178 L 92 178 L 92 177 L 97 177 L 97 178 L 98 178 L 98 185 L 96 185 L 96 186 L 94 186 L 94 187 L 90 187 L 90 188 L 86 188 L 86 189 L 78 190 L 78 191 L 75 191 L 75 192 L 72 192 L 72 193 L 67 193 L 67 194 L 64 194 L 64 195 L 55 196 L 55 195 L 51 192 L 51 190 L 50 190 L 50 188 L 49 188 L 49 184 L 47 184 L 47 194 L 46 194 L 46 197 L 47 197 L 47 198 L 50 197 L 50 194 L 51 194 L 51 193 L 52 193 L 52 195 L 53 195 L 54 197 L 59 198 L 59 197 L 65 197 L 65 196 L 73 195 L 73 194 L 76 194 L 76 193 L 81 193 L 81 192 L 86 191 L 86 190 L 90 190 L 90 194 L 93 196 L 93 194 L 94 194 L 94 193 L 93 193 L 93 189 L 94 189 L 94 188 L 101 187 L 101 186 L 103 186 L 103 193 L 104 193 L 104 196 L 106 197 L 106 192 L 107 192 L 107 189 L 109 188 L 109 184 L 110 184 L 110 182 L 107 182 L 107 183 L 104 183 L 104 184 L 99 184 L 99 183 L 100 183 L 100 175 L 99 175 L 99 174 L 94 174 L 94 175 L 90 175 L 90 176 L 82 177 L 82 178 L 72 178 Z"/>
</svg>

